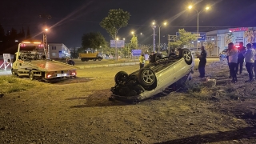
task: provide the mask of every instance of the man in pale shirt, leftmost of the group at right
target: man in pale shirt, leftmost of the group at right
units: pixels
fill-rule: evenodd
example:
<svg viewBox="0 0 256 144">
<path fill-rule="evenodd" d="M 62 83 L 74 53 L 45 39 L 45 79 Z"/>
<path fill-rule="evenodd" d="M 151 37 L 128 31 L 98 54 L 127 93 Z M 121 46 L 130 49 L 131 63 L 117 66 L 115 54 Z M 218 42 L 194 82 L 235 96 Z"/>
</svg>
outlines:
<svg viewBox="0 0 256 144">
<path fill-rule="evenodd" d="M 234 47 L 234 43 L 230 42 L 228 45 L 228 50 L 226 52 L 226 55 L 229 56 L 229 67 L 230 67 L 230 73 L 232 76 L 231 82 L 238 82 L 236 68 L 238 65 L 238 49 Z"/>
</svg>

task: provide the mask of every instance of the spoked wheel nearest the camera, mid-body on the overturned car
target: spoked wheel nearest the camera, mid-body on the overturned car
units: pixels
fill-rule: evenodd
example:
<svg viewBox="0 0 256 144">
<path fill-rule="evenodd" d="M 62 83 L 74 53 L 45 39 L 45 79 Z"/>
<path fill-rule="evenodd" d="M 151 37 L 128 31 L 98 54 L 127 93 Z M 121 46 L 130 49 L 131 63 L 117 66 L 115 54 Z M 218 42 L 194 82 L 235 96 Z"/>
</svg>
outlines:
<svg viewBox="0 0 256 144">
<path fill-rule="evenodd" d="M 151 69 L 141 69 L 138 73 L 138 82 L 142 86 L 151 86 L 154 84 L 155 81 L 155 74 L 154 71 Z"/>
</svg>

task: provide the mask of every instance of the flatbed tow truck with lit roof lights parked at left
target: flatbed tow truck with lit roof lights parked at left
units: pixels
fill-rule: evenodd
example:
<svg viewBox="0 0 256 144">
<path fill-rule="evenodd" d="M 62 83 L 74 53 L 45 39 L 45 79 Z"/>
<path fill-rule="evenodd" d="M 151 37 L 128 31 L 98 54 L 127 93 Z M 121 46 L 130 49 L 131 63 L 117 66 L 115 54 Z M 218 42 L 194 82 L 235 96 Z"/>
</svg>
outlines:
<svg viewBox="0 0 256 144">
<path fill-rule="evenodd" d="M 22 42 L 14 54 L 11 73 L 14 77 L 28 77 L 30 80 L 54 78 L 76 78 L 77 67 L 51 60 L 46 57 L 41 42 Z"/>
</svg>

